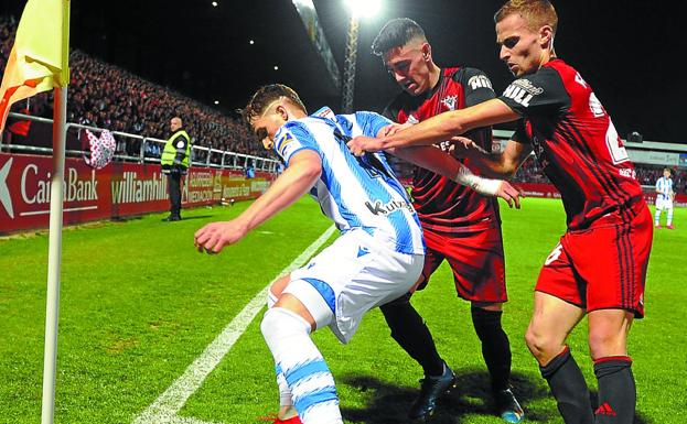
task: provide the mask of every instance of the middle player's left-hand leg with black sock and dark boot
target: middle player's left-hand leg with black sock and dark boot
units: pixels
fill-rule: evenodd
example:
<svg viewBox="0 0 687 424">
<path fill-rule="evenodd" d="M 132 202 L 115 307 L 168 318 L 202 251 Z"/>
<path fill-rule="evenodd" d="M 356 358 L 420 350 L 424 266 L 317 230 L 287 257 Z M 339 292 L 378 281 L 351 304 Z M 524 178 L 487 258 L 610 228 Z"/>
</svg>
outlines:
<svg viewBox="0 0 687 424">
<path fill-rule="evenodd" d="M 427 285 L 429 275 L 434 272 L 442 260 L 443 257 L 439 253 L 427 249 L 422 276 L 420 278 L 420 290 Z M 434 339 L 425 319 L 410 303 L 410 296 L 411 293 L 407 293 L 379 308 L 391 330 L 394 340 L 422 367 L 425 378 L 422 379 L 420 394 L 408 411 L 409 417 L 419 418 L 428 416 L 434 411 L 437 400 L 453 385 L 455 376 L 437 351 Z"/>
</svg>

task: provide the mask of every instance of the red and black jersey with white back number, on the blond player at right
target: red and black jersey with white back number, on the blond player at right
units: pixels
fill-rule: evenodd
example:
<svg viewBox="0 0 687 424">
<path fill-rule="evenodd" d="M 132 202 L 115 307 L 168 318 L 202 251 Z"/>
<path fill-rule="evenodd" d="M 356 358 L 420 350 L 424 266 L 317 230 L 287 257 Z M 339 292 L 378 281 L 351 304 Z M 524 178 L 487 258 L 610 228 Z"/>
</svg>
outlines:
<svg viewBox="0 0 687 424">
<path fill-rule="evenodd" d="M 513 139 L 532 143 L 560 192 L 569 229 L 587 228 L 643 198 L 611 118 L 570 65 L 554 59 L 513 81 L 498 98 L 523 117 Z"/>
</svg>

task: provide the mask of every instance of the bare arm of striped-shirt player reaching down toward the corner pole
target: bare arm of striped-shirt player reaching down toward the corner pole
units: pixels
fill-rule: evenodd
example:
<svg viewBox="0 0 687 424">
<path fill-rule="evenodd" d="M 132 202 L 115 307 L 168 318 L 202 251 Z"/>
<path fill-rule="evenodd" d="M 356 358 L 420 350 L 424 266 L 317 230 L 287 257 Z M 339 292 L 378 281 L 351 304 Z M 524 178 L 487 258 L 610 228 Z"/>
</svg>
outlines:
<svg viewBox="0 0 687 424">
<path fill-rule="evenodd" d="M 315 151 L 304 149 L 296 152 L 285 172 L 237 218 L 212 222 L 197 230 L 195 247 L 201 252 L 218 253 L 225 246 L 239 241 L 248 231 L 308 193 L 321 173 L 322 161 Z"/>
</svg>

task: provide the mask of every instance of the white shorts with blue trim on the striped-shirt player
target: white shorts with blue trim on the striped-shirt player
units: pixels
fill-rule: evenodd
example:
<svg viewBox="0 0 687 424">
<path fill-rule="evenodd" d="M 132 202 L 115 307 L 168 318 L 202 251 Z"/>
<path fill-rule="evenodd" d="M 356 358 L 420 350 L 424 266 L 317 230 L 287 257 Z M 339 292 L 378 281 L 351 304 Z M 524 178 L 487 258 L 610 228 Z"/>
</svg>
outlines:
<svg viewBox="0 0 687 424">
<path fill-rule="evenodd" d="M 346 344 L 367 311 L 410 290 L 420 276 L 423 262 L 423 254 L 396 252 L 356 229 L 345 232 L 305 267 L 291 272 L 283 293 L 292 294 L 305 305 L 318 328 L 329 325 Z"/>
</svg>

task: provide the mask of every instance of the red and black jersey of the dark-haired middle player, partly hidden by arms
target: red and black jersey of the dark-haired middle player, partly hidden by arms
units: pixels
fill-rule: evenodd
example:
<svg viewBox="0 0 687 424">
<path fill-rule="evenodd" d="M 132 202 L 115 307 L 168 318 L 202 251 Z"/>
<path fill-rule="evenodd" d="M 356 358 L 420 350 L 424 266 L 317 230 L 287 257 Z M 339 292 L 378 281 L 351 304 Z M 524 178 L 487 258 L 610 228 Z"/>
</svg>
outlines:
<svg viewBox="0 0 687 424">
<path fill-rule="evenodd" d="M 451 67 L 441 70 L 437 85 L 426 96 L 399 94 L 384 111 L 396 122 L 420 122 L 441 112 L 463 109 L 494 98 L 486 75 L 474 68 Z M 466 134 L 487 151 L 492 150 L 492 129 Z M 451 141 L 436 144 L 449 153 Z M 463 160 L 463 163 L 466 161 Z M 469 165 L 469 163 L 466 163 Z M 412 177 L 414 206 L 423 228 L 441 232 L 472 231 L 501 224 L 498 204 L 472 188 L 422 167 Z"/>
</svg>

